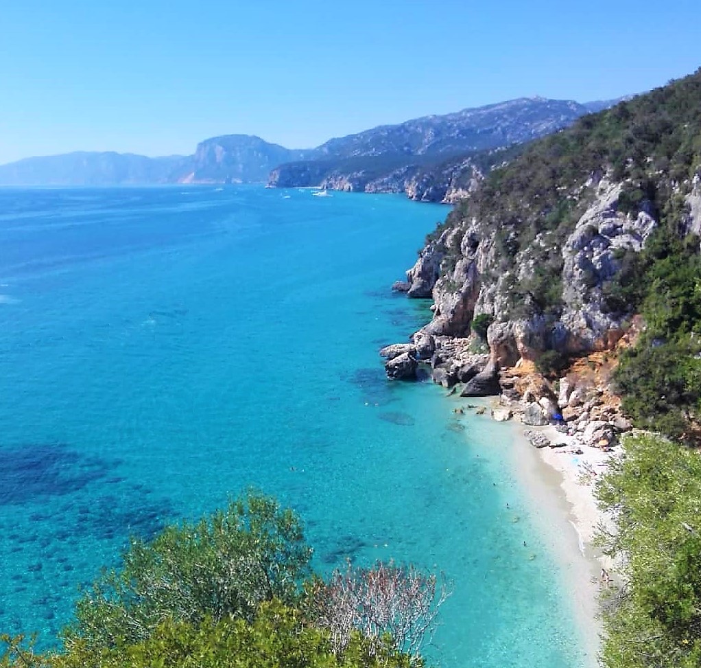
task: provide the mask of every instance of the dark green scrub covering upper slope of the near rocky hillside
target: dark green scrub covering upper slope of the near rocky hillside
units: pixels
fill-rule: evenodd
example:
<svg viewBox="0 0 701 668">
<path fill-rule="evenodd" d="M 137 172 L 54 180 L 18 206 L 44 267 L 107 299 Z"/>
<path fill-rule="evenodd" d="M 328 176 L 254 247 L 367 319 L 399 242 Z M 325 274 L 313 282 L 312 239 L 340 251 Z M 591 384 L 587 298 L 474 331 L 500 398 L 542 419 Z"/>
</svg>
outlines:
<svg viewBox="0 0 701 668">
<path fill-rule="evenodd" d="M 496 234 L 494 275 L 536 267 L 514 279 L 505 318 L 547 314 L 562 307 L 562 243 L 610 173 L 623 182 L 620 211 L 648 211 L 675 234 L 685 213 L 683 196 L 701 165 L 701 70 L 532 142 L 451 212 L 444 229 L 479 221 Z M 632 283 L 632 281 L 631 281 Z M 639 287 L 639 283 L 636 284 Z M 631 287 L 629 285 L 628 287 Z M 618 286 L 605 286 L 608 306 L 630 312 Z M 629 290 L 630 292 L 630 290 Z"/>
</svg>

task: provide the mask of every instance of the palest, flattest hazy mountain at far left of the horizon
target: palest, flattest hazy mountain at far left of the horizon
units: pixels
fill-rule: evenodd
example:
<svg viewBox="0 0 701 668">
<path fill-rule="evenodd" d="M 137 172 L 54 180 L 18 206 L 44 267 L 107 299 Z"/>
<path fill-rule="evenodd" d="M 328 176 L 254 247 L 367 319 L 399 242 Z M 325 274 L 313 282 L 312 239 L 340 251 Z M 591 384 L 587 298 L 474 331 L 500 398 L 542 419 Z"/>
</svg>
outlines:
<svg viewBox="0 0 701 668">
<path fill-rule="evenodd" d="M 26 158 L 0 166 L 0 185 L 137 185 L 167 182 L 183 156 L 76 152 Z"/>
</svg>

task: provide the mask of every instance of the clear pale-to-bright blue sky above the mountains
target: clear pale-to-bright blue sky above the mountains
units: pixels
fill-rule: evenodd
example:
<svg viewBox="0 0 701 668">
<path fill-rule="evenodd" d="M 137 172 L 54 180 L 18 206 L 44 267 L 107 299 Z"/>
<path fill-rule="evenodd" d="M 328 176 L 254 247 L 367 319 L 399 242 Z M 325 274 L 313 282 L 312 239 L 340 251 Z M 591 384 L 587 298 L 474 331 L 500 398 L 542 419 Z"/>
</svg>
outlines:
<svg viewBox="0 0 701 668">
<path fill-rule="evenodd" d="M 287 147 L 701 67 L 700 0 L 5 0 L 0 163 L 72 150 Z"/>
</svg>

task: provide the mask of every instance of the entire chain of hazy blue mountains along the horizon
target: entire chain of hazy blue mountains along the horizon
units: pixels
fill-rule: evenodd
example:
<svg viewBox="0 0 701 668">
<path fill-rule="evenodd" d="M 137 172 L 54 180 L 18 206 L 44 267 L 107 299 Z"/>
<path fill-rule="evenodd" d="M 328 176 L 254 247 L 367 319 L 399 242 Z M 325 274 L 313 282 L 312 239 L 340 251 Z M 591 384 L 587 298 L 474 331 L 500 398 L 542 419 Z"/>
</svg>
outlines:
<svg viewBox="0 0 701 668">
<path fill-rule="evenodd" d="M 200 142 L 190 156 L 37 156 L 0 166 L 0 185 L 268 182 L 278 187 L 404 191 L 413 199 L 440 201 L 447 192 L 459 196 L 468 189 L 481 168 L 503 159 L 506 147 L 550 134 L 613 102 L 520 98 L 379 126 L 314 149 L 287 149 L 254 135 L 224 135 Z"/>
</svg>

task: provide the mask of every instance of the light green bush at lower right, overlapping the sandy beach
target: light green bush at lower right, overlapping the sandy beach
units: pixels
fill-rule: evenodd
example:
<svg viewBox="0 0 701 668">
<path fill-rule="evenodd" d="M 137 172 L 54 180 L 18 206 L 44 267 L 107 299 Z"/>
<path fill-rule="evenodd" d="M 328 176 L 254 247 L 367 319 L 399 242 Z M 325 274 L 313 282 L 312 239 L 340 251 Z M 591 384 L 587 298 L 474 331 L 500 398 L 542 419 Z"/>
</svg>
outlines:
<svg viewBox="0 0 701 668">
<path fill-rule="evenodd" d="M 698 668 L 701 457 L 660 437 L 629 437 L 597 497 L 618 525 L 600 540 L 624 582 L 604 615 L 604 665 Z"/>
</svg>

